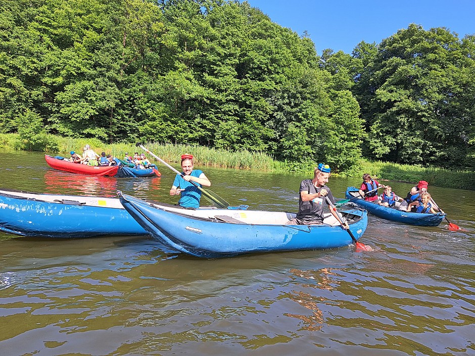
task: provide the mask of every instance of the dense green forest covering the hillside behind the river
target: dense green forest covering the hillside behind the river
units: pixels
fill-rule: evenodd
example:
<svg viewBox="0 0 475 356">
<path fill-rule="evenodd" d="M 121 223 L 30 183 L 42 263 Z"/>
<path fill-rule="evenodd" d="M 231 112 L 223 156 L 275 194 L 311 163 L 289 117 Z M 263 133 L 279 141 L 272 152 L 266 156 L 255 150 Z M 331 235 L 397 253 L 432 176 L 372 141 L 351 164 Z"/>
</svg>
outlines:
<svg viewBox="0 0 475 356">
<path fill-rule="evenodd" d="M 410 24 L 352 54 L 231 0 L 3 0 L 0 133 L 475 168 L 475 36 Z"/>
</svg>

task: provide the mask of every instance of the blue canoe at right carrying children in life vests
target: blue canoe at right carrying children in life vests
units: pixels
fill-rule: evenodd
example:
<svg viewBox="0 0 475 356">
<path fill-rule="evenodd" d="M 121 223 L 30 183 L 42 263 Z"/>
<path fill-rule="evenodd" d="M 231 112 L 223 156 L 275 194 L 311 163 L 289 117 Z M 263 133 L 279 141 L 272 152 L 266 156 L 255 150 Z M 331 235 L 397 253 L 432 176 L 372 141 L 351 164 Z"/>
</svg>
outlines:
<svg viewBox="0 0 475 356">
<path fill-rule="evenodd" d="M 375 204 L 364 200 L 360 194 L 359 189 L 355 187 L 348 187 L 345 193 L 347 199 L 366 209 L 368 213 L 373 214 L 379 218 L 398 221 L 400 223 L 416 225 L 416 226 L 439 226 L 444 220 L 445 214 L 419 214 L 406 213 L 394 208 L 388 208 L 382 205 Z M 396 203 L 399 206 L 399 202 Z"/>
</svg>

